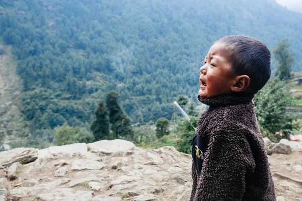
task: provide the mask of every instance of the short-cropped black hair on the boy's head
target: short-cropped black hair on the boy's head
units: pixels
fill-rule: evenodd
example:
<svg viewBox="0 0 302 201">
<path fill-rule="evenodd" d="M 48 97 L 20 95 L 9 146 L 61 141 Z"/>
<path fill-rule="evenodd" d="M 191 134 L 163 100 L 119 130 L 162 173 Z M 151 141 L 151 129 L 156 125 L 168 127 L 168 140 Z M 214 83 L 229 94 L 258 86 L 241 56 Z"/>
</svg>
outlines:
<svg viewBox="0 0 302 201">
<path fill-rule="evenodd" d="M 246 36 L 225 36 L 216 42 L 221 42 L 230 52 L 234 73 L 248 75 L 249 89 L 257 93 L 271 74 L 271 54 L 266 45 Z"/>
</svg>

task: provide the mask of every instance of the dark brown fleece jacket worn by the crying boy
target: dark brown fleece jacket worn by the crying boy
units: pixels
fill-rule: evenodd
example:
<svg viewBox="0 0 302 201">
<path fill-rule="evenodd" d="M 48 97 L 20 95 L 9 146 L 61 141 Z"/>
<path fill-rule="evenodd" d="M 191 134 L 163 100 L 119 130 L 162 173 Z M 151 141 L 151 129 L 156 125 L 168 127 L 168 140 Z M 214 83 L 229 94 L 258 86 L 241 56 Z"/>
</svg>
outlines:
<svg viewBox="0 0 302 201">
<path fill-rule="evenodd" d="M 200 175 L 192 164 L 191 201 L 274 201 L 275 189 L 252 102 L 246 93 L 200 97 L 197 123 L 208 148 Z"/>
</svg>

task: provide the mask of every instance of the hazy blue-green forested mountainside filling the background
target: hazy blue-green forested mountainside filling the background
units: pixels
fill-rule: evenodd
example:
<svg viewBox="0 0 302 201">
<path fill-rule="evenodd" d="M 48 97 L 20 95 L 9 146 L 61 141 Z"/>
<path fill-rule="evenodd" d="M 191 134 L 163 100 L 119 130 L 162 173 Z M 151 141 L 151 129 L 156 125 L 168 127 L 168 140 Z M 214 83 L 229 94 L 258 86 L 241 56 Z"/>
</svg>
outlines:
<svg viewBox="0 0 302 201">
<path fill-rule="evenodd" d="M 273 0 L 0 1 L 0 35 L 23 80 L 19 108 L 47 140 L 64 122 L 89 125 L 112 89 L 132 122 L 171 119 L 178 95 L 196 99 L 203 58 L 225 35 L 270 49 L 288 38 L 302 70 L 301 20 Z"/>
</svg>

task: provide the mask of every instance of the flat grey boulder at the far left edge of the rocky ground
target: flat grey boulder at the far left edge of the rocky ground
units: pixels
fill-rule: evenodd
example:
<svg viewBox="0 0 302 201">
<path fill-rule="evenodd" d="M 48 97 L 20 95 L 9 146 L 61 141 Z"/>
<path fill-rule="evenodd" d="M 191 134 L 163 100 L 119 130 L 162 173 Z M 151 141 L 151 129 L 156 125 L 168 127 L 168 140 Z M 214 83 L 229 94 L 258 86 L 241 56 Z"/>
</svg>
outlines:
<svg viewBox="0 0 302 201">
<path fill-rule="evenodd" d="M 15 162 L 29 163 L 38 158 L 38 149 L 16 148 L 0 154 L 0 166 L 8 167 Z"/>
</svg>

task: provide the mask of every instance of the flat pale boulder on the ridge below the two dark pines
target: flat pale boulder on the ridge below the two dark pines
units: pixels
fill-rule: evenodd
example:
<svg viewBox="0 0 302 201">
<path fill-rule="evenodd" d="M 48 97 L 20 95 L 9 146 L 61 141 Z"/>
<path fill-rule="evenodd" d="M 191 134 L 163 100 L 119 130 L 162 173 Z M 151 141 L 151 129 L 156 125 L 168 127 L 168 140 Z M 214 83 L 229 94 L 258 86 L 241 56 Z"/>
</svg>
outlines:
<svg viewBox="0 0 302 201">
<path fill-rule="evenodd" d="M 94 153 L 102 154 L 122 154 L 132 150 L 135 145 L 132 142 L 126 140 L 101 140 L 94 143 L 87 144 L 88 149 Z"/>
</svg>

